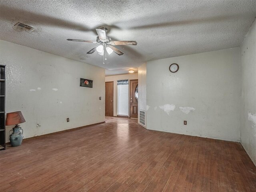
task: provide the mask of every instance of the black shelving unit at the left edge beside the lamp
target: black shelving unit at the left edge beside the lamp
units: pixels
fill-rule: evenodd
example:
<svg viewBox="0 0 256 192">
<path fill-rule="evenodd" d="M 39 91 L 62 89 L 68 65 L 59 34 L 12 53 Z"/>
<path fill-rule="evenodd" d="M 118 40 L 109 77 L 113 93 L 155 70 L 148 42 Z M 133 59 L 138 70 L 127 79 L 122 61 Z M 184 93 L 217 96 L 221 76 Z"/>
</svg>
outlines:
<svg viewBox="0 0 256 192">
<path fill-rule="evenodd" d="M 5 150 L 5 65 L 0 64 L 0 150 Z"/>
</svg>

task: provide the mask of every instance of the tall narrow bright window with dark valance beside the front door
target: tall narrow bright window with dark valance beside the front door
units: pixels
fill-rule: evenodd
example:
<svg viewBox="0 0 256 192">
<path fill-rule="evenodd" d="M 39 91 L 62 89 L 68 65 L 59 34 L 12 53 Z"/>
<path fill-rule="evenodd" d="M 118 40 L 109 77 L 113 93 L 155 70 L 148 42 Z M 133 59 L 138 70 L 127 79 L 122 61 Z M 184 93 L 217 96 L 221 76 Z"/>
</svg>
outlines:
<svg viewBox="0 0 256 192">
<path fill-rule="evenodd" d="M 128 80 L 117 81 L 117 93 L 118 93 L 118 104 L 117 113 L 118 115 L 129 115 L 129 84 Z"/>
</svg>

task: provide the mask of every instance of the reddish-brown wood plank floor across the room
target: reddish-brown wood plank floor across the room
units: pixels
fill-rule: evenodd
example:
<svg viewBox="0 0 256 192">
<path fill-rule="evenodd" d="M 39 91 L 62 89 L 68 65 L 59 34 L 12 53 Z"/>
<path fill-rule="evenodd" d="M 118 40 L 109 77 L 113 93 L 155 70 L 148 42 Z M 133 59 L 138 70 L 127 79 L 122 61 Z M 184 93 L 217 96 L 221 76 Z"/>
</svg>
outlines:
<svg viewBox="0 0 256 192">
<path fill-rule="evenodd" d="M 256 191 L 256 167 L 241 144 L 120 119 L 1 151 L 0 191 Z"/>
</svg>

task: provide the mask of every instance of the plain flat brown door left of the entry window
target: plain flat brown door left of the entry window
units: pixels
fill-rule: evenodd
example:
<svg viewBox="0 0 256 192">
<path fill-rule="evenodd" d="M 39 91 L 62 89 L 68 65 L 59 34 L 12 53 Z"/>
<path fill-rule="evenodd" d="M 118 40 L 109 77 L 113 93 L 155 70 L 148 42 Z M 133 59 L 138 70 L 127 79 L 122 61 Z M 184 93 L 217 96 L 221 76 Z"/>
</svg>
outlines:
<svg viewBox="0 0 256 192">
<path fill-rule="evenodd" d="M 105 116 L 114 115 L 114 82 L 105 82 Z"/>
</svg>

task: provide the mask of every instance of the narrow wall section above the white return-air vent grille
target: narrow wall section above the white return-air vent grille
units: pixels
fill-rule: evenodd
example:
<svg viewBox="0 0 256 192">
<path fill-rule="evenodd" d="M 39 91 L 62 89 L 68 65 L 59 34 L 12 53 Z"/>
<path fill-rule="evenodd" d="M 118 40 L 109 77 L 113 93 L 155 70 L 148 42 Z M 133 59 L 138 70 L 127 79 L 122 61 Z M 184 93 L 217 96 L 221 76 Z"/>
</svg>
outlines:
<svg viewBox="0 0 256 192">
<path fill-rule="evenodd" d="M 138 110 L 147 110 L 147 104 L 146 104 L 146 99 L 147 99 L 147 64 L 144 63 L 139 67 L 139 71 L 138 71 L 138 92 L 139 92 L 139 96 L 138 96 Z M 139 114 L 139 112 L 138 112 Z"/>
</svg>

